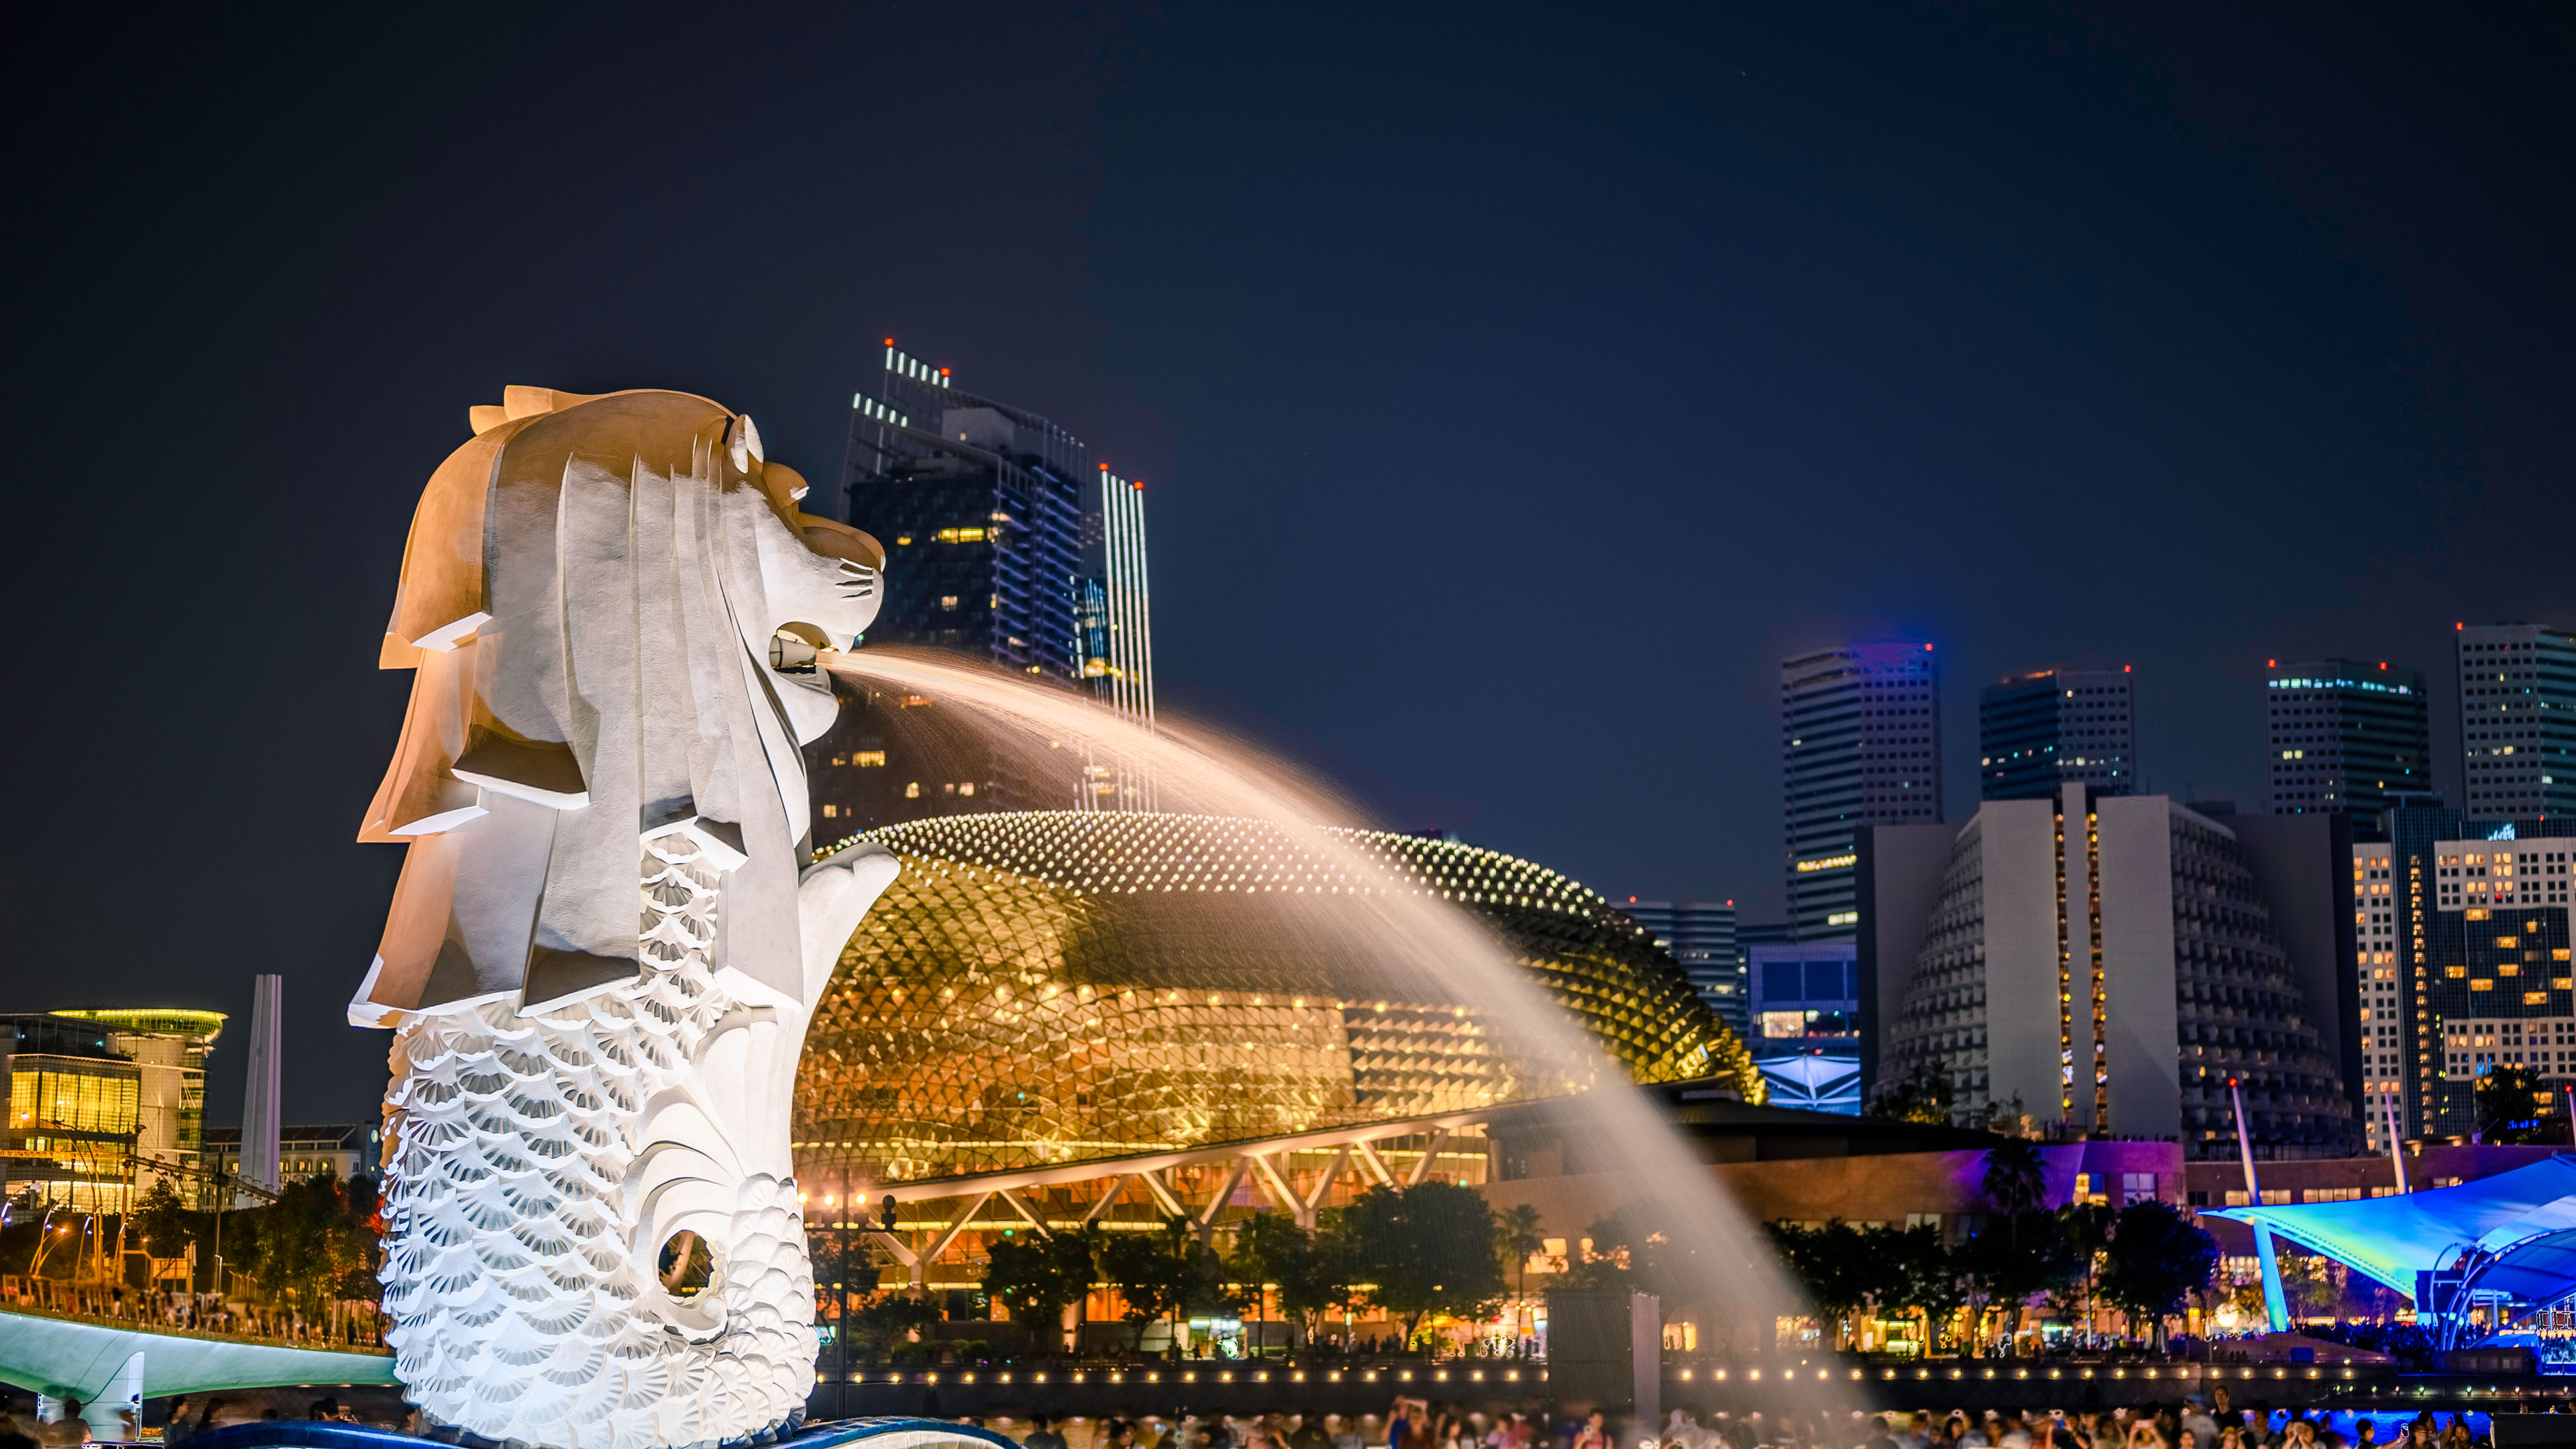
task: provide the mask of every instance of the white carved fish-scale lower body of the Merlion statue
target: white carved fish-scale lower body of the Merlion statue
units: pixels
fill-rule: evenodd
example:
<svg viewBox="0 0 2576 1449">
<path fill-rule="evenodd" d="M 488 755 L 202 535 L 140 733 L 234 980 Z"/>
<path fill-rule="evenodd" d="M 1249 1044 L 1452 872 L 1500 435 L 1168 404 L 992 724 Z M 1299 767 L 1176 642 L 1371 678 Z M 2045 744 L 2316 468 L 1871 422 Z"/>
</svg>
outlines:
<svg viewBox="0 0 2576 1449">
<path fill-rule="evenodd" d="M 394 1036 L 386 1341 L 412 1403 L 479 1439 L 757 1444 L 796 1426 L 814 1385 L 793 1181 L 742 1181 L 708 1232 L 719 1328 L 649 1310 L 659 1243 L 639 1243 L 623 1191 L 649 1147 L 641 1106 L 685 1085 L 737 1003 L 708 969 L 721 874 L 688 835 L 647 841 L 641 866 L 636 982 L 538 1016 L 507 1000 L 420 1016 Z"/>
</svg>

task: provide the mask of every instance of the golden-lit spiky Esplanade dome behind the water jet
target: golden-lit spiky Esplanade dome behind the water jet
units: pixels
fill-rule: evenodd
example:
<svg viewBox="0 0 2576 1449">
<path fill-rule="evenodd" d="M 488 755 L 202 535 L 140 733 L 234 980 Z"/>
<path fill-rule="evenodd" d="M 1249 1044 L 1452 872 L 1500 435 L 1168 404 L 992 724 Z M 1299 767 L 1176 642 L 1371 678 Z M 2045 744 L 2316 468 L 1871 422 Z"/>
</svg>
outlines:
<svg viewBox="0 0 2576 1449">
<path fill-rule="evenodd" d="M 917 1181 L 1759 1075 L 1680 967 L 1582 884 L 1412 835 L 1206 815 L 948 815 L 860 835 L 904 871 L 814 1008 L 806 1178 Z M 1394 895 L 1450 900 L 1584 1029 L 1569 1052 L 1391 964 Z M 1455 982 L 1455 985 L 1440 985 Z"/>
</svg>

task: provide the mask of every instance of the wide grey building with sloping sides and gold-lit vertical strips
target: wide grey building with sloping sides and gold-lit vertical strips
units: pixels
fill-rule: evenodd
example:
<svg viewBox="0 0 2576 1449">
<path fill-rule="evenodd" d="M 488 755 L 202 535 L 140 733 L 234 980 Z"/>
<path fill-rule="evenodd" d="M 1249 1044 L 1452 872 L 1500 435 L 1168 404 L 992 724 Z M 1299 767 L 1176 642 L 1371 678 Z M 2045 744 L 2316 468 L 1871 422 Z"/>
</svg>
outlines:
<svg viewBox="0 0 2576 1449">
<path fill-rule="evenodd" d="M 1904 1006 L 1880 1026 L 1880 1080 L 1940 1062 L 1965 1119 L 1994 1106 L 2226 1158 L 2233 1078 L 2257 1145 L 2352 1150 L 2347 1036 L 2326 1029 L 2344 1011 L 2331 910 L 2352 900 L 2334 890 L 2352 861 L 2318 825 L 2331 822 L 2249 843 L 2161 794 L 2084 786 L 1981 804 L 1940 866 Z"/>
</svg>

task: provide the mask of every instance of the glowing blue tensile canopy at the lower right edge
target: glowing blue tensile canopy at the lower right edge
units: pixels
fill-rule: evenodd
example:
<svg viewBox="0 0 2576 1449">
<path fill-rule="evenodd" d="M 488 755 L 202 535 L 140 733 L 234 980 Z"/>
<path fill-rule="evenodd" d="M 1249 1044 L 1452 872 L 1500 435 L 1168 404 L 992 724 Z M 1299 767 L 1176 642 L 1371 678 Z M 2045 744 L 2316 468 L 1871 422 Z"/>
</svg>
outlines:
<svg viewBox="0 0 2576 1449">
<path fill-rule="evenodd" d="M 2545 1302 L 2576 1292 L 2576 1235 L 2553 1248 L 2561 1230 L 2576 1230 L 2576 1152 L 2558 1152 L 2545 1163 L 2478 1178 L 2455 1189 L 2432 1189 L 2403 1196 L 2372 1196 L 2362 1201 L 2308 1201 L 2264 1207 L 2218 1207 L 2208 1217 L 2251 1222 L 2269 1227 L 2311 1253 L 2324 1253 L 2336 1263 L 2370 1274 L 2398 1289 L 2416 1292 L 2416 1274 L 2452 1266 L 2460 1253 L 2514 1253 L 2514 1266 L 2548 1276 L 2550 1266 L 2563 1274 L 2563 1287 L 2532 1281 L 2517 1294 L 2527 1302 Z M 2550 1235 L 2553 1243 L 2543 1243 Z M 2501 1269 L 2501 1263 L 2499 1263 Z"/>
</svg>

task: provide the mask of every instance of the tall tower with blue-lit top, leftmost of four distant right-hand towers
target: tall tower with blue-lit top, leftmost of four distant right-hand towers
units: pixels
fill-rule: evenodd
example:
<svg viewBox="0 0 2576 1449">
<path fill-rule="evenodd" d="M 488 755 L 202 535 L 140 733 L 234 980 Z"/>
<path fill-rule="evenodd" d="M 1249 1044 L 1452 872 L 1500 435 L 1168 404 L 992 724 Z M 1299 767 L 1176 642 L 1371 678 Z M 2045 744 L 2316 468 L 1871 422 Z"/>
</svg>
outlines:
<svg viewBox="0 0 2576 1449">
<path fill-rule="evenodd" d="M 1788 913 L 1798 941 L 1850 941 L 1852 835 L 1940 820 L 1932 645 L 1847 645 L 1780 665 Z"/>
</svg>

